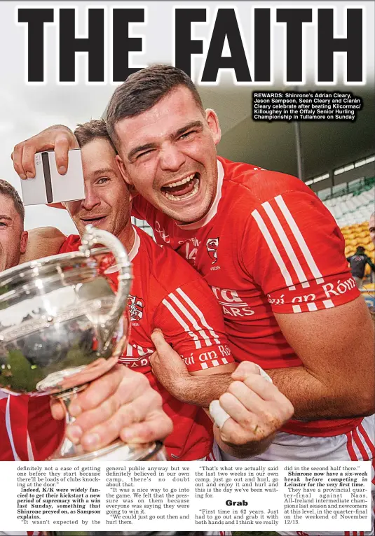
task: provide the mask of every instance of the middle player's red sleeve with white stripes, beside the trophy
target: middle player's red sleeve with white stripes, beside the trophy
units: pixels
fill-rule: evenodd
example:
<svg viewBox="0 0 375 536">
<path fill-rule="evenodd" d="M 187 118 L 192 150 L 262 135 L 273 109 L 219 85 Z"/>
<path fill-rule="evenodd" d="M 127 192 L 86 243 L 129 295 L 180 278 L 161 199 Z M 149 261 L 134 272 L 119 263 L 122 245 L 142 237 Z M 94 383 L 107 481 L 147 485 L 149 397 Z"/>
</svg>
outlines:
<svg viewBox="0 0 375 536">
<path fill-rule="evenodd" d="M 160 327 L 189 372 L 234 361 L 221 311 L 203 279 L 193 278 L 165 295 L 154 314 L 154 327 Z"/>
</svg>

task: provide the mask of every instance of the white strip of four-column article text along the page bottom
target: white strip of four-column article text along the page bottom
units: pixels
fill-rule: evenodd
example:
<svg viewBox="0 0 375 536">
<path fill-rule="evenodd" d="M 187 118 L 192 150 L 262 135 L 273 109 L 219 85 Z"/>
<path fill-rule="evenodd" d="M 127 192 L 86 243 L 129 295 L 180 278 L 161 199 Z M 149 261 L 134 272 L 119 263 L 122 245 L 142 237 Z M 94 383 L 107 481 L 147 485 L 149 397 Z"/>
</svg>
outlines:
<svg viewBox="0 0 375 536">
<path fill-rule="evenodd" d="M 369 530 L 365 462 L 2 465 L 9 530 Z"/>
</svg>

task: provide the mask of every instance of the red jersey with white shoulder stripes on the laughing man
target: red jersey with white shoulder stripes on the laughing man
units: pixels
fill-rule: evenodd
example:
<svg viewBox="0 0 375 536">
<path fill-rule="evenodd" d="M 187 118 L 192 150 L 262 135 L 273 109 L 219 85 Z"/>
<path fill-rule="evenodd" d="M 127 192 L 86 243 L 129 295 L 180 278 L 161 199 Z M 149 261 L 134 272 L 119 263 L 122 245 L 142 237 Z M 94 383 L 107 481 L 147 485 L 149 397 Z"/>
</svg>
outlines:
<svg viewBox="0 0 375 536">
<path fill-rule="evenodd" d="M 274 313 L 329 309 L 360 295 L 331 213 L 299 179 L 219 157 L 217 193 L 196 223 L 177 225 L 140 196 L 132 216 L 146 220 L 200 272 L 221 305 L 236 360 L 263 369 L 302 365 Z M 303 422 L 299 435 L 338 435 L 361 419 Z"/>
</svg>

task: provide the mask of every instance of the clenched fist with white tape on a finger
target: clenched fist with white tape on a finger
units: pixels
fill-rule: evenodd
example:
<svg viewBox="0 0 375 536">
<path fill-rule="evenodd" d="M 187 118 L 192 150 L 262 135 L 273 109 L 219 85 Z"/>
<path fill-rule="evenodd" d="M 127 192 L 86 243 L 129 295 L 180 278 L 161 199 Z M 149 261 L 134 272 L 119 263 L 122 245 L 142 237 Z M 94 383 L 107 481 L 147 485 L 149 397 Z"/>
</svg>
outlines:
<svg viewBox="0 0 375 536">
<path fill-rule="evenodd" d="M 233 382 L 219 398 L 229 418 L 222 424 L 213 409 L 214 436 L 220 448 L 236 458 L 248 458 L 264 452 L 275 432 L 292 417 L 294 408 L 277 387 L 261 376 L 259 367 L 242 362 L 232 374 Z"/>
</svg>

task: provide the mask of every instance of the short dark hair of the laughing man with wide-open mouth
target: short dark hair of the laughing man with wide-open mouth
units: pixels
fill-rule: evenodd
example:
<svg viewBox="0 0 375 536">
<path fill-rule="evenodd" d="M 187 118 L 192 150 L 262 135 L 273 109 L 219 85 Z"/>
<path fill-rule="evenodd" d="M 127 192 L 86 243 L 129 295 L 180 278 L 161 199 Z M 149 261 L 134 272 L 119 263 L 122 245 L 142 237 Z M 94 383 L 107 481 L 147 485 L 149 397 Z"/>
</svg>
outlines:
<svg viewBox="0 0 375 536">
<path fill-rule="evenodd" d="M 114 144 L 118 146 L 116 122 L 149 110 L 179 86 L 187 87 L 204 113 L 196 86 L 191 78 L 177 67 L 152 65 L 128 76 L 125 82 L 116 88 L 107 108 L 107 129 Z"/>
</svg>

